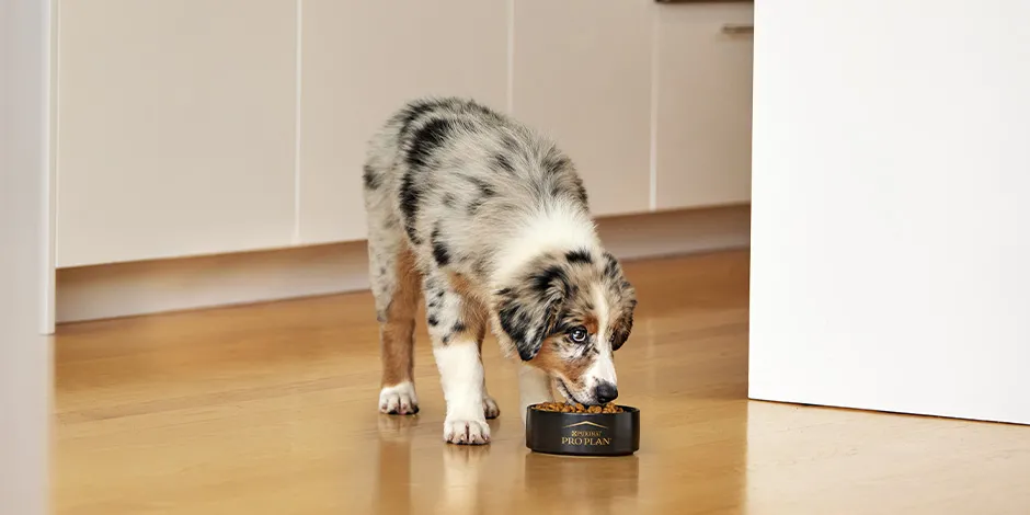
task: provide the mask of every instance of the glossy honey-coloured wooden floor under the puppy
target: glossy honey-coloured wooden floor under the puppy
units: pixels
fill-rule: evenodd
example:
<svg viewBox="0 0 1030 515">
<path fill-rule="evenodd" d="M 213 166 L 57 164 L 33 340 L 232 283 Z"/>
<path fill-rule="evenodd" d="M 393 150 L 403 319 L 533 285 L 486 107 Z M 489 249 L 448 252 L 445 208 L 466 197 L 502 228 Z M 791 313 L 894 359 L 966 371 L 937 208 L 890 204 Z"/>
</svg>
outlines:
<svg viewBox="0 0 1030 515">
<path fill-rule="evenodd" d="M 424 327 L 421 413 L 379 415 L 367 294 L 64 327 L 55 513 L 1030 513 L 1030 427 L 748 402 L 747 259 L 628 266 L 628 458 L 528 453 L 493 341 L 493 444 L 444 444 Z"/>
</svg>

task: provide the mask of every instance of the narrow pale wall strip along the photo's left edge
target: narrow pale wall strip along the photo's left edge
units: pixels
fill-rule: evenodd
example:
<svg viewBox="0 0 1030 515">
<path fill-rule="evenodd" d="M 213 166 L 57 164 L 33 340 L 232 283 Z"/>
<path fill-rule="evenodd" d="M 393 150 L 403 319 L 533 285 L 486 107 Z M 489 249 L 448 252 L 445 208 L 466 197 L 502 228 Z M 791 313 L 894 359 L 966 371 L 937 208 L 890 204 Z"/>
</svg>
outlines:
<svg viewBox="0 0 1030 515">
<path fill-rule="evenodd" d="M 49 2 L 0 4 L 0 512 L 47 506 Z"/>
</svg>

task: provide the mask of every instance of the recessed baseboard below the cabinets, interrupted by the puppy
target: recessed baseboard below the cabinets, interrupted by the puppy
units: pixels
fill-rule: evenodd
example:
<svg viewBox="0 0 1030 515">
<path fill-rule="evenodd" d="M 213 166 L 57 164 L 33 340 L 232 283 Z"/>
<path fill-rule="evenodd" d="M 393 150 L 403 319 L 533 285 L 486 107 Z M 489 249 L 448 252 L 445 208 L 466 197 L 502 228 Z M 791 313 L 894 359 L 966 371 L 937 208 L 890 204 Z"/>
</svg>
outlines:
<svg viewBox="0 0 1030 515">
<path fill-rule="evenodd" d="M 749 206 L 598 220 L 619 259 L 745 248 Z M 253 304 L 368 288 L 364 242 L 57 271 L 58 323 Z"/>
</svg>

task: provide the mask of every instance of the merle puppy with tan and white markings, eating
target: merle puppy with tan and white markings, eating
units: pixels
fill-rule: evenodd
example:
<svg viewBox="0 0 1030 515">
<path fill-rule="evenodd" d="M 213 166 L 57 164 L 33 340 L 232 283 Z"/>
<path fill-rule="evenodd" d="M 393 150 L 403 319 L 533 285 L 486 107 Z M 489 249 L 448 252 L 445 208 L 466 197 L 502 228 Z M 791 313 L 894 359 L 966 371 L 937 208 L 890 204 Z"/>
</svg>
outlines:
<svg viewBox="0 0 1030 515">
<path fill-rule="evenodd" d="M 551 139 L 473 100 L 405 103 L 364 164 L 371 289 L 382 362 L 379 410 L 419 412 L 412 345 L 425 300 L 447 404 L 444 440 L 488 444 L 500 414 L 480 351 L 487 327 L 520 359 L 526 407 L 618 397 L 613 353 L 637 296 L 602 245 L 583 181 Z"/>
</svg>

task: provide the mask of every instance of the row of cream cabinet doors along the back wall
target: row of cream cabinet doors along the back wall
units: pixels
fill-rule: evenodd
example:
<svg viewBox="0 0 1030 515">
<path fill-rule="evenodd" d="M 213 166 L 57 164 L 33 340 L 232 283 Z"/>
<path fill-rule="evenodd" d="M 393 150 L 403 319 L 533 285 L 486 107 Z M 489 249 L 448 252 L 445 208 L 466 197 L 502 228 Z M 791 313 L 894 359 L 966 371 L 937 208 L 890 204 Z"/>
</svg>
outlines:
<svg viewBox="0 0 1030 515">
<path fill-rule="evenodd" d="M 549 133 L 597 216 L 746 202 L 752 11 L 62 0 L 58 265 L 364 239 L 367 141 L 423 95 Z"/>
</svg>

